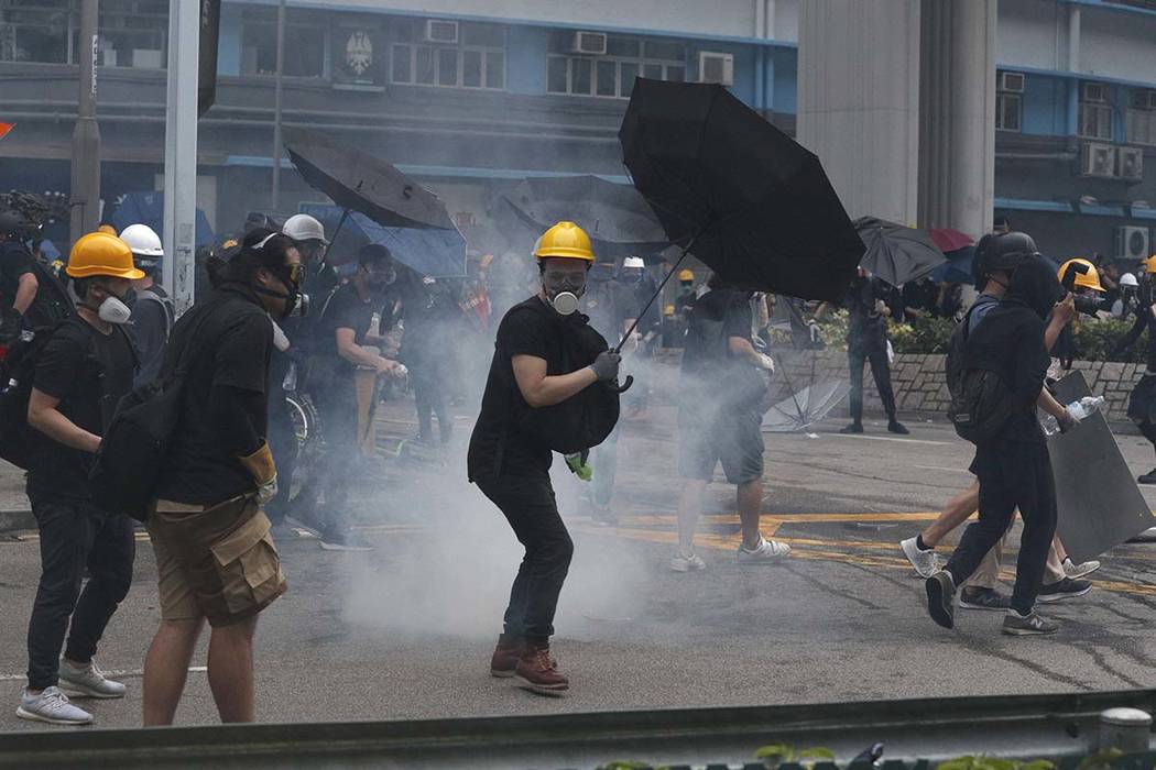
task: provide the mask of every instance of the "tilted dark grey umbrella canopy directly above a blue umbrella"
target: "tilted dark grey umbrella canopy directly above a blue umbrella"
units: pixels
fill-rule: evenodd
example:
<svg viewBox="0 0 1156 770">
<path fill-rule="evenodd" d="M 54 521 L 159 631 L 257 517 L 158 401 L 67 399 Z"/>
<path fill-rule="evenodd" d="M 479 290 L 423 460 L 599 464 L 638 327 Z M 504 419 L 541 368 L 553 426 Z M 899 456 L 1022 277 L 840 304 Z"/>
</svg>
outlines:
<svg viewBox="0 0 1156 770">
<path fill-rule="evenodd" d="M 317 132 L 287 128 L 284 135 L 301 175 L 339 207 L 391 227 L 453 229 L 445 204 L 385 160 Z"/>
</svg>

